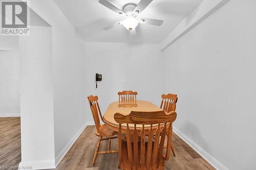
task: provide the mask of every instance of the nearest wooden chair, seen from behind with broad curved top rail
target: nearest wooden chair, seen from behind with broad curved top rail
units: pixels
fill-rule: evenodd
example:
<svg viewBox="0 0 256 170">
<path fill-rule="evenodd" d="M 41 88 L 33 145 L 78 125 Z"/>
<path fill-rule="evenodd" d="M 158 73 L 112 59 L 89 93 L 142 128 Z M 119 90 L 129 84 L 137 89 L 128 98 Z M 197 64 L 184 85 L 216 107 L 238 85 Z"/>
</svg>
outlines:
<svg viewBox="0 0 256 170">
<path fill-rule="evenodd" d="M 164 160 L 168 160 L 170 155 L 173 132 L 173 126 L 167 124 L 172 125 L 176 117 L 176 112 L 165 114 L 164 111 L 132 111 L 129 115 L 116 113 L 114 119 L 119 124 L 118 167 L 126 170 L 164 169 Z M 126 127 L 126 141 L 122 140 L 122 125 Z M 167 150 L 164 154 L 166 134 Z"/>
</svg>

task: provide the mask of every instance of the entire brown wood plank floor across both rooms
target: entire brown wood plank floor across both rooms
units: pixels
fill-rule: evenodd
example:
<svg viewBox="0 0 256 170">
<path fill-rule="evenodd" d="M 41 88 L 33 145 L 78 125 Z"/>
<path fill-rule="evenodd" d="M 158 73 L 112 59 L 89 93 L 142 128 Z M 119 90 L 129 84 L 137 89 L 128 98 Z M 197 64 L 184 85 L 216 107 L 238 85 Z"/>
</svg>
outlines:
<svg viewBox="0 0 256 170">
<path fill-rule="evenodd" d="M 95 126 L 88 126 L 56 169 L 118 169 L 117 154 L 99 154 L 95 165 L 92 165 L 97 141 Z M 165 169 L 215 169 L 175 133 L 173 134 L 173 143 L 176 157 L 171 154 L 170 159 L 165 161 Z M 117 149 L 117 146 L 117 139 L 112 140 L 113 149 Z M 102 141 L 100 149 L 105 150 L 107 148 L 108 141 Z M 20 118 L 0 118 L 0 166 L 2 166 L 0 169 L 18 166 L 20 158 Z"/>
</svg>

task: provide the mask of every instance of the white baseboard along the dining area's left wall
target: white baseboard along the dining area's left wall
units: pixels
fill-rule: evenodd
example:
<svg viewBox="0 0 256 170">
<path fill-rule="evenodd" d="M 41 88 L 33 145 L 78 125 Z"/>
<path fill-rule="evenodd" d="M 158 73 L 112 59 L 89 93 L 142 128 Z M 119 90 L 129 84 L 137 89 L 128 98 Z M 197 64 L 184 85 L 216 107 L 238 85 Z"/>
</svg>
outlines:
<svg viewBox="0 0 256 170">
<path fill-rule="evenodd" d="M 58 154 L 58 156 L 55 158 L 55 167 L 58 166 L 60 161 L 63 159 L 63 157 L 67 154 L 67 152 L 70 150 L 76 139 L 80 136 L 82 131 L 86 129 L 88 125 L 94 125 L 94 122 L 86 122 L 83 124 L 83 126 L 77 131 L 77 133 L 72 137 L 72 139 L 69 141 L 69 143 L 63 148 L 63 150 Z"/>
</svg>

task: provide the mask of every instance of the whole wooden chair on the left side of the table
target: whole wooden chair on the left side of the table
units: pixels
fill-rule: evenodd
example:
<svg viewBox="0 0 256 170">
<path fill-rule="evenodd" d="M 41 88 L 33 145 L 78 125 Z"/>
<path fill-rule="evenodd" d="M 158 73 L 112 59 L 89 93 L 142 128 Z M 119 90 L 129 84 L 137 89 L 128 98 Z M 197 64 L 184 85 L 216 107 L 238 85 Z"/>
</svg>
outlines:
<svg viewBox="0 0 256 170">
<path fill-rule="evenodd" d="M 95 134 L 99 138 L 96 146 L 96 150 L 94 153 L 94 157 L 93 157 L 93 165 L 94 165 L 98 154 L 111 154 L 111 153 L 118 152 L 117 150 L 111 150 L 111 139 L 117 138 L 118 133 L 116 131 L 111 130 L 107 125 L 100 124 L 99 115 L 102 121 L 103 121 L 103 118 L 102 118 L 101 111 L 98 104 L 98 96 L 90 95 L 87 98 L 89 101 L 89 105 L 93 114 L 93 119 L 96 127 Z M 101 140 L 109 140 L 108 151 L 99 151 Z"/>
</svg>

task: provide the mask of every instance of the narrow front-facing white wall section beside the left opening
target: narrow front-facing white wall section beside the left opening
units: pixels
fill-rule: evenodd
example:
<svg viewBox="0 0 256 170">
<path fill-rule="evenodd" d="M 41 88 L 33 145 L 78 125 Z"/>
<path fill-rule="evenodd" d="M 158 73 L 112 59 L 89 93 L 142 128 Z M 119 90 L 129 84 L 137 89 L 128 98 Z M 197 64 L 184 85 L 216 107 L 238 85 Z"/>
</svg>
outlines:
<svg viewBox="0 0 256 170">
<path fill-rule="evenodd" d="M 54 168 L 52 30 L 19 37 L 22 166 Z"/>
</svg>

